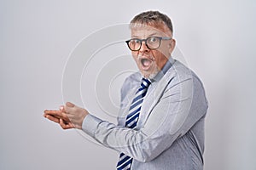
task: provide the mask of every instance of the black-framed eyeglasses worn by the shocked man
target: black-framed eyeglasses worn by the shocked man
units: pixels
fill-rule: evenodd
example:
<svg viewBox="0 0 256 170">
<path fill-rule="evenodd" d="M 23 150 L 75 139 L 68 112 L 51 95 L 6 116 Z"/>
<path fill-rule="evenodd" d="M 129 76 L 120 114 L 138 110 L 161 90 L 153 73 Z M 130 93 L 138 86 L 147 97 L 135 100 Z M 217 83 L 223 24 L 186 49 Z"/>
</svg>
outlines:
<svg viewBox="0 0 256 170">
<path fill-rule="evenodd" d="M 172 37 L 148 37 L 147 39 L 132 38 L 125 41 L 131 51 L 138 51 L 142 47 L 142 43 L 145 42 L 148 49 L 160 48 L 161 40 L 171 40 Z"/>
</svg>

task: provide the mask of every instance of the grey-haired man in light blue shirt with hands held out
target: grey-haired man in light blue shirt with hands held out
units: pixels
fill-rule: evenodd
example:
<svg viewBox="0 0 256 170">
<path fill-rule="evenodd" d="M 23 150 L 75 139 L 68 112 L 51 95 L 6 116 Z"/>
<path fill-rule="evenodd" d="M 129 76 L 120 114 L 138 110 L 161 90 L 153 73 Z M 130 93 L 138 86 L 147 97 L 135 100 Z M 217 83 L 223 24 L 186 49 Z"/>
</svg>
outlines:
<svg viewBox="0 0 256 170">
<path fill-rule="evenodd" d="M 148 11 L 135 16 L 130 27 L 126 43 L 139 72 L 121 88 L 118 126 L 70 102 L 44 116 L 118 150 L 117 169 L 203 169 L 207 99 L 195 73 L 172 59 L 171 20 Z"/>
</svg>

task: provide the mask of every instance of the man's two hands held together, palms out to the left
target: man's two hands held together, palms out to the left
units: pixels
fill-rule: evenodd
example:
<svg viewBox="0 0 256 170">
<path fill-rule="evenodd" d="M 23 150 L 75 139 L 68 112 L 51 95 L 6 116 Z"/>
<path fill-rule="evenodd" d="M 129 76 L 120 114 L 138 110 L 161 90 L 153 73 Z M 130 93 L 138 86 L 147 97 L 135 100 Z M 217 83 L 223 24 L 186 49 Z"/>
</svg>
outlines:
<svg viewBox="0 0 256 170">
<path fill-rule="evenodd" d="M 61 106 L 60 111 L 44 111 L 44 117 L 59 123 L 63 129 L 82 129 L 84 117 L 88 114 L 88 111 L 70 102 L 67 102 L 65 106 Z"/>
</svg>

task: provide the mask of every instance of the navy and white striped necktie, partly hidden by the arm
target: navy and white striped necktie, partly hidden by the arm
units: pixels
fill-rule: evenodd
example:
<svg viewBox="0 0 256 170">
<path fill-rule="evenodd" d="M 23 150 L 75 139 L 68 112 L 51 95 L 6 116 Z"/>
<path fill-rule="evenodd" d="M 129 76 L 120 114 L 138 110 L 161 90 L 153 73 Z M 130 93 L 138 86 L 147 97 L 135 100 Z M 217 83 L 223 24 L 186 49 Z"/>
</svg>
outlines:
<svg viewBox="0 0 256 170">
<path fill-rule="evenodd" d="M 125 127 L 135 129 L 137 127 L 137 120 L 140 115 L 143 99 L 148 91 L 148 86 L 151 82 L 148 79 L 143 78 L 140 88 L 137 90 L 134 99 L 131 102 L 129 114 L 126 116 Z M 132 158 L 121 153 L 119 156 L 119 162 L 117 164 L 118 170 L 130 170 Z"/>
</svg>

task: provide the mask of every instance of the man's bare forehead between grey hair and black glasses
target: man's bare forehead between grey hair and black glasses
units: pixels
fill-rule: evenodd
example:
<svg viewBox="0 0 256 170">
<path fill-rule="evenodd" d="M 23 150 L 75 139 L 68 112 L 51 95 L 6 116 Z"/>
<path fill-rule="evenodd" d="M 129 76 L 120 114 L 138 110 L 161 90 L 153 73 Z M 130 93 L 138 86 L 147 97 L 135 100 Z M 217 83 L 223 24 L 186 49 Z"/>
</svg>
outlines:
<svg viewBox="0 0 256 170">
<path fill-rule="evenodd" d="M 165 24 L 154 25 L 133 24 L 131 25 L 131 37 L 162 36 L 171 37 L 172 33 Z"/>
</svg>

